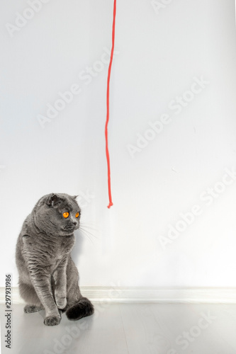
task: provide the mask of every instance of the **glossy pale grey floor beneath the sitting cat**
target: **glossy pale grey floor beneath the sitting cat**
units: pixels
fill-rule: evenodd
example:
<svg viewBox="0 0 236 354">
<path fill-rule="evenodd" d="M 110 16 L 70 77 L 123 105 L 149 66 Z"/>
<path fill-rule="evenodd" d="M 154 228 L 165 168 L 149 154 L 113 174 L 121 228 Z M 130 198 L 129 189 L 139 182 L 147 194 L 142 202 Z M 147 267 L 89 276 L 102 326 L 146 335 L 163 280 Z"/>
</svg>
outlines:
<svg viewBox="0 0 236 354">
<path fill-rule="evenodd" d="M 44 311 L 11 314 L 11 350 L 4 348 L 6 316 L 1 308 L 1 353 L 11 354 L 235 354 L 236 304 L 96 303 L 93 316 L 59 326 L 43 324 Z"/>
</svg>

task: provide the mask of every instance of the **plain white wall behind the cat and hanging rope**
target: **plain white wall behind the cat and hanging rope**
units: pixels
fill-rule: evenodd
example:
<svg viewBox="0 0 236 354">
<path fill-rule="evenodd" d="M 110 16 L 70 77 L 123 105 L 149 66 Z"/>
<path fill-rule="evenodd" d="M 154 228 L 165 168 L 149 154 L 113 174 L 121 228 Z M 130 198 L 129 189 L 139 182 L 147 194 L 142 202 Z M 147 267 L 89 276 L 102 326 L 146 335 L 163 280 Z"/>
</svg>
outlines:
<svg viewBox="0 0 236 354">
<path fill-rule="evenodd" d="M 9 272 L 17 285 L 23 220 L 42 195 L 58 192 L 81 195 L 93 234 L 77 234 L 81 285 L 236 286 L 236 181 L 227 172 L 236 168 L 234 1 L 118 0 L 110 210 L 101 59 L 111 48 L 113 0 L 45 1 L 38 13 L 29 3 L 1 4 L 0 285 Z M 15 21 L 21 27 L 6 28 Z M 81 92 L 43 128 L 39 115 L 74 84 Z M 164 117 L 162 132 L 150 131 Z M 192 211 L 186 226 L 180 214 Z M 185 230 L 170 239 L 176 223 Z"/>
</svg>

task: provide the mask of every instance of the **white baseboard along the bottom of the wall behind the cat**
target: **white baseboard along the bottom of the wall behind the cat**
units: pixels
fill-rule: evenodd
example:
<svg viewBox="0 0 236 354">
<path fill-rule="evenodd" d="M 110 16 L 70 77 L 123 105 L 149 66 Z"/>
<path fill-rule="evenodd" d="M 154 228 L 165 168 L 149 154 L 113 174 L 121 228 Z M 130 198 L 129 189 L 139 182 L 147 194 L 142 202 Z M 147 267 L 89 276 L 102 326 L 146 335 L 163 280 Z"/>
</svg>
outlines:
<svg viewBox="0 0 236 354">
<path fill-rule="evenodd" d="M 82 295 L 93 302 L 155 303 L 235 303 L 236 287 L 80 287 Z M 18 287 L 11 288 L 13 304 L 24 304 Z M 0 304 L 5 302 L 5 288 L 0 287 Z"/>
</svg>

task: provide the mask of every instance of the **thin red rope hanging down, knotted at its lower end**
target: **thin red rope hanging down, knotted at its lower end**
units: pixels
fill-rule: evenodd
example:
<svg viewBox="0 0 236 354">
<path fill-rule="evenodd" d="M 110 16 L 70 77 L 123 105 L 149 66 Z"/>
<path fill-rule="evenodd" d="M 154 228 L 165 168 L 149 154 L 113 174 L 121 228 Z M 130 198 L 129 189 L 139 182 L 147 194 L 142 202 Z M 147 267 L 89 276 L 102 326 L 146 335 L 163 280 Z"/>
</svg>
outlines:
<svg viewBox="0 0 236 354">
<path fill-rule="evenodd" d="M 110 169 L 110 156 L 108 149 L 108 122 L 109 122 L 109 98 L 110 98 L 110 78 L 111 78 L 111 65 L 113 62 L 113 53 L 115 46 L 115 27 L 116 27 L 116 0 L 114 0 L 113 6 L 113 25 L 112 25 L 112 47 L 111 47 L 111 58 L 110 64 L 108 67 L 108 77 L 107 77 L 107 91 L 106 91 L 106 126 L 105 126 L 105 137 L 106 137 L 106 161 L 107 161 L 107 171 L 108 171 L 108 196 L 109 196 L 109 205 L 108 208 L 113 205 L 111 198 L 111 169 Z"/>
</svg>

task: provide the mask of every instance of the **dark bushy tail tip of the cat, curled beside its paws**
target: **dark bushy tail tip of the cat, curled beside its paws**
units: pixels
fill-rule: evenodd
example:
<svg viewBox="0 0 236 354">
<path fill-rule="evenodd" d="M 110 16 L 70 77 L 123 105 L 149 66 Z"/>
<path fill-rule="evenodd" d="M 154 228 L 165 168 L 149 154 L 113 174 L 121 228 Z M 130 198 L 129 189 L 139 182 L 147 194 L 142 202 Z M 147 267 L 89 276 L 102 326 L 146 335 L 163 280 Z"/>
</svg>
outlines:
<svg viewBox="0 0 236 354">
<path fill-rule="evenodd" d="M 81 297 L 79 302 L 73 304 L 66 310 L 67 319 L 71 321 L 77 321 L 91 314 L 94 314 L 94 305 L 86 297 Z"/>
</svg>

